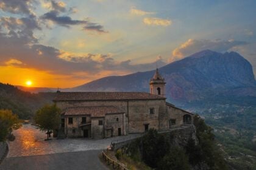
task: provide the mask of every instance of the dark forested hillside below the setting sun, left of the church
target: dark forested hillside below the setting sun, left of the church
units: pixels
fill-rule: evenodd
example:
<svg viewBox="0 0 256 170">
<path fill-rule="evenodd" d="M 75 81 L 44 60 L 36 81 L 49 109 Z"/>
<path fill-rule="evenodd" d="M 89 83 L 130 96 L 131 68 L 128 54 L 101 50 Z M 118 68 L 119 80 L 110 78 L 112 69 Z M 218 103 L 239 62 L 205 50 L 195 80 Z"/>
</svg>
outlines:
<svg viewBox="0 0 256 170">
<path fill-rule="evenodd" d="M 52 103 L 55 93 L 30 94 L 10 84 L 0 83 L 0 109 L 10 109 L 19 118 L 31 118 L 35 111 L 47 103 Z"/>
</svg>

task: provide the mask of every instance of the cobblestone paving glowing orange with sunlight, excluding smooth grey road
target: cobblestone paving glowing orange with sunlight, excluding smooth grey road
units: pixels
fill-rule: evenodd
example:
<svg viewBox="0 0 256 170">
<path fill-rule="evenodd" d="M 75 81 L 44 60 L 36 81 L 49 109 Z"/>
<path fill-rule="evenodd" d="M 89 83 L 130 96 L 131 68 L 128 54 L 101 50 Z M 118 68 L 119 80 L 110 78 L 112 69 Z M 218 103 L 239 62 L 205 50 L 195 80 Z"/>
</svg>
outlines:
<svg viewBox="0 0 256 170">
<path fill-rule="evenodd" d="M 99 150 L 107 148 L 111 141 L 121 141 L 136 136 L 135 134 L 101 140 L 87 138 L 66 138 L 64 140 L 57 140 L 53 138 L 52 140 L 44 141 L 46 134 L 30 124 L 24 124 L 21 129 L 14 131 L 13 134 L 16 139 L 9 143 L 10 151 L 7 157 Z"/>
</svg>

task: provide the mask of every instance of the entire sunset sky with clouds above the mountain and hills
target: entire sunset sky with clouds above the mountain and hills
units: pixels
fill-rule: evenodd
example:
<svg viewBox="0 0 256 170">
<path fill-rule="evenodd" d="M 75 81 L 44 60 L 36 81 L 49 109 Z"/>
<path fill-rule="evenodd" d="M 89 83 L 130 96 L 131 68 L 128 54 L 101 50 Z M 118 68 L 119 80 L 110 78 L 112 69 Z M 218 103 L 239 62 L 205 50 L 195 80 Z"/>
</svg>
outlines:
<svg viewBox="0 0 256 170">
<path fill-rule="evenodd" d="M 256 73 L 256 1 L 0 0 L 0 82 L 74 87 L 204 49 Z"/>
</svg>

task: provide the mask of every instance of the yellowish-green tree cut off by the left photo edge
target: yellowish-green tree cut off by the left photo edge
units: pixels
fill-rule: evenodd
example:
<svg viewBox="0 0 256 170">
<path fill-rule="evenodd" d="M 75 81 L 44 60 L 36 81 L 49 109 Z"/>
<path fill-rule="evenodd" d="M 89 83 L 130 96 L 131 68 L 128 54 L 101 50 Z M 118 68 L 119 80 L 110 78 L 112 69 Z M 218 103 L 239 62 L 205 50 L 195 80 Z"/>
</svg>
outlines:
<svg viewBox="0 0 256 170">
<path fill-rule="evenodd" d="M 12 113 L 12 110 L 0 110 L 0 141 L 5 141 L 7 136 L 21 127 L 18 115 Z"/>
</svg>

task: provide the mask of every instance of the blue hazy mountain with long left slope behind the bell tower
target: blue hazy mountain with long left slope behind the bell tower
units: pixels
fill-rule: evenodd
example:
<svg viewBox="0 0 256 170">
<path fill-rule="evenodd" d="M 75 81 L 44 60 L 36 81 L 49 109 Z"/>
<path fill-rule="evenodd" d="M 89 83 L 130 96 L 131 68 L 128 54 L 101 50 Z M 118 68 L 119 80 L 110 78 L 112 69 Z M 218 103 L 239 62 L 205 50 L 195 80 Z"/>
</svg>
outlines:
<svg viewBox="0 0 256 170">
<path fill-rule="evenodd" d="M 104 77 L 69 91 L 144 91 L 155 70 Z M 166 97 L 174 103 L 208 98 L 209 95 L 256 97 L 252 66 L 236 52 L 204 50 L 159 69 L 166 81 Z"/>
</svg>

